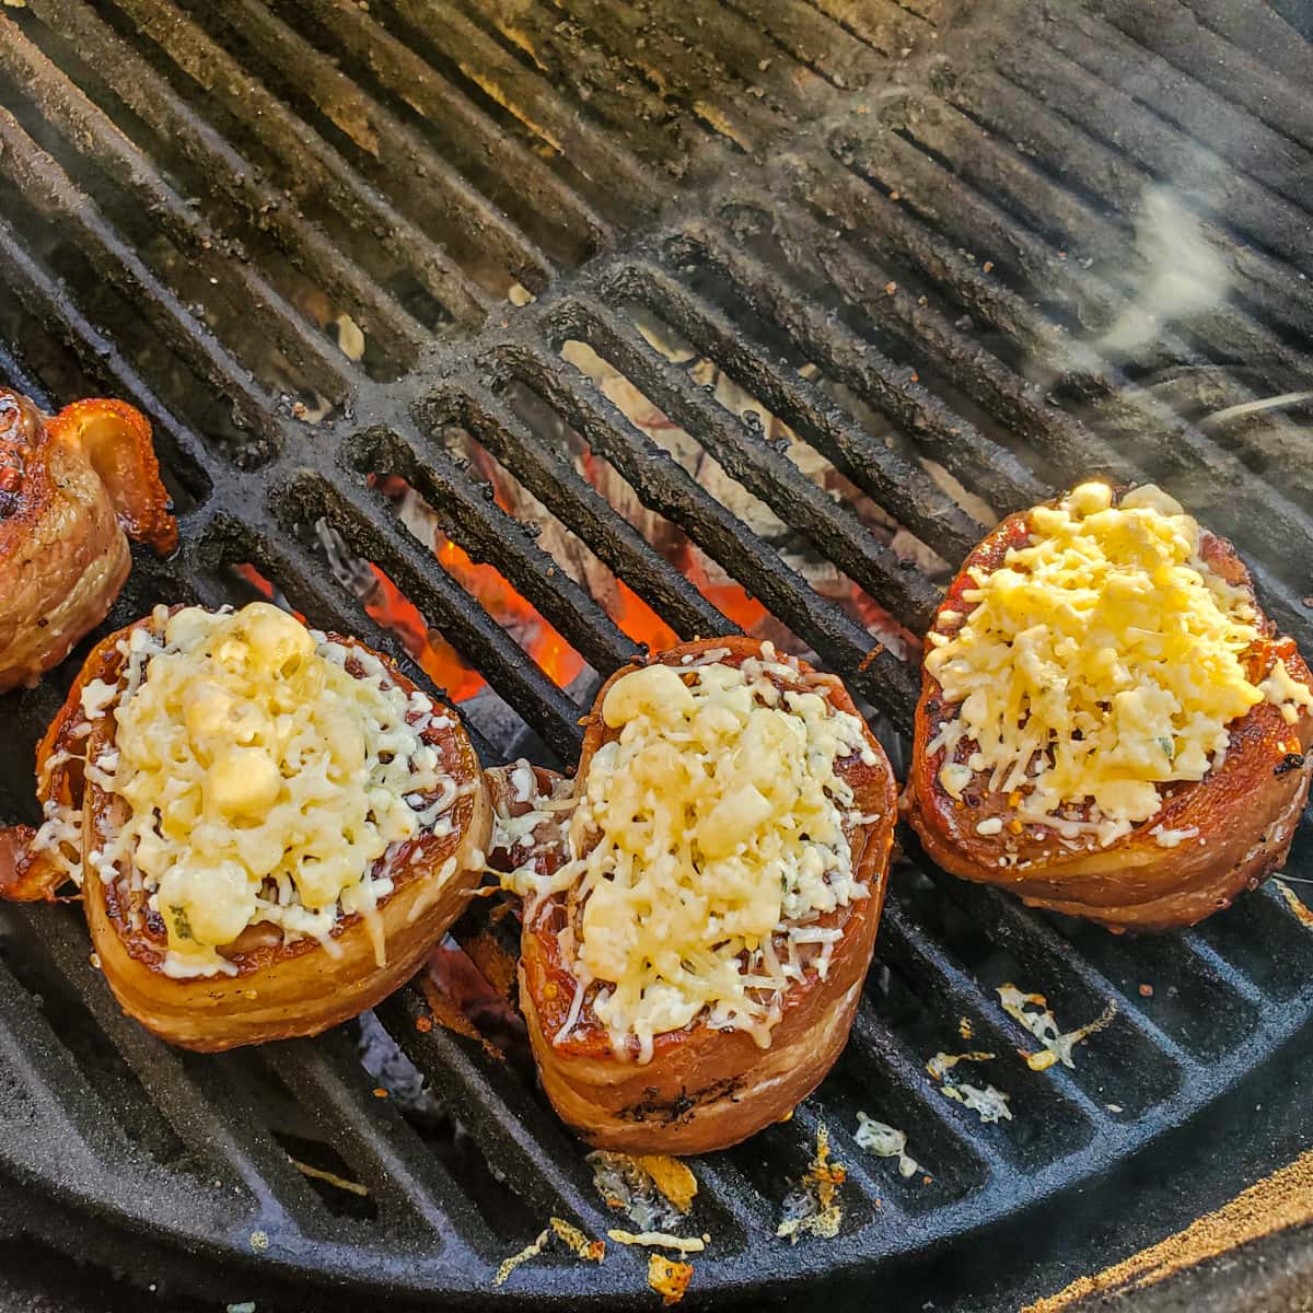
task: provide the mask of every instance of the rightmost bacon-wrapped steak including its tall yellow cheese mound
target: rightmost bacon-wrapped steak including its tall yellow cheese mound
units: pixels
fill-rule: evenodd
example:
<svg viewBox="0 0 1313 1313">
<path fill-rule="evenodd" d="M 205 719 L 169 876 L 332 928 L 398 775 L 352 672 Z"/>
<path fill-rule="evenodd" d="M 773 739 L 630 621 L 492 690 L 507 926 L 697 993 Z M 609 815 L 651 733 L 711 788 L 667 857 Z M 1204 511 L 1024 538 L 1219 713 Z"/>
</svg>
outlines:
<svg viewBox="0 0 1313 1313">
<path fill-rule="evenodd" d="M 1229 542 L 1157 490 L 1086 484 L 1008 516 L 949 587 L 909 819 L 945 871 L 1031 906 L 1190 926 L 1284 864 L 1313 773 L 1310 687 Z"/>
</svg>

